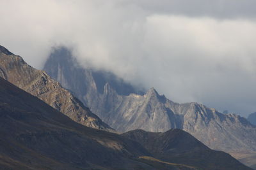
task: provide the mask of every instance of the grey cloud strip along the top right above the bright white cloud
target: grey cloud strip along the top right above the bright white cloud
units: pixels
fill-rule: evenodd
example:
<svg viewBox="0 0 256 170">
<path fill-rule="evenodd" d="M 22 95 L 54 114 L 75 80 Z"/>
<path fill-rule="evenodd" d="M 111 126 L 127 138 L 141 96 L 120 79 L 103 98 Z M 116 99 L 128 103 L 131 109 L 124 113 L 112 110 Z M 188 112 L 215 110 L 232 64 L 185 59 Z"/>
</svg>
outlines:
<svg viewBox="0 0 256 170">
<path fill-rule="evenodd" d="M 254 0 L 125 0 L 124 6 L 136 4 L 148 13 L 186 15 L 189 17 L 255 18 Z"/>
</svg>

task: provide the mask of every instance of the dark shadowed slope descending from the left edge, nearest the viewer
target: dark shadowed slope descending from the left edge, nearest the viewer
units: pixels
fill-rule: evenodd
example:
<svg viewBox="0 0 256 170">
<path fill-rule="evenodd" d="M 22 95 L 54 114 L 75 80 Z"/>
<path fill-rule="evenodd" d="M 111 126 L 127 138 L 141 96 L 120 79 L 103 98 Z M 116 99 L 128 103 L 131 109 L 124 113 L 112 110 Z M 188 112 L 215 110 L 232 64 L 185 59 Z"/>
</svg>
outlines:
<svg viewBox="0 0 256 170">
<path fill-rule="evenodd" d="M 130 157 L 148 155 L 138 143 L 79 125 L 2 78 L 0 104 L 1 165 L 24 169 L 123 167 L 136 164 Z"/>
</svg>

